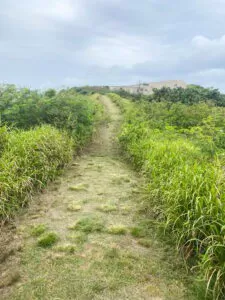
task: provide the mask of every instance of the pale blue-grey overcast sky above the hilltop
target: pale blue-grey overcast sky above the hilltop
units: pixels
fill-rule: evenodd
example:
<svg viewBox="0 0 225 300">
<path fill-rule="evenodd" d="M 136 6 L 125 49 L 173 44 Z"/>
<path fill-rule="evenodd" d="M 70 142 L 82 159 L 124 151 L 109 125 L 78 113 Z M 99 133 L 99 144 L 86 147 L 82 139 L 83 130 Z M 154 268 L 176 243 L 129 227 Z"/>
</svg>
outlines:
<svg viewBox="0 0 225 300">
<path fill-rule="evenodd" d="M 0 0 L 0 82 L 225 91 L 225 0 Z"/>
</svg>

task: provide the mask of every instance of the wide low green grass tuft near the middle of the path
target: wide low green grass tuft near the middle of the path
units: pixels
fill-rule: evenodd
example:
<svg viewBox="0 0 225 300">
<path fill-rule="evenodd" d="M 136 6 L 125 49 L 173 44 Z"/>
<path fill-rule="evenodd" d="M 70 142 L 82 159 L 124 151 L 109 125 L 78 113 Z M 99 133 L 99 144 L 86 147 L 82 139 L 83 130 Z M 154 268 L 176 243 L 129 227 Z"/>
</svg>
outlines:
<svg viewBox="0 0 225 300">
<path fill-rule="evenodd" d="M 73 230 L 80 230 L 86 233 L 102 232 L 104 230 L 104 223 L 97 217 L 86 217 L 79 220 L 74 226 L 70 227 Z"/>
</svg>

